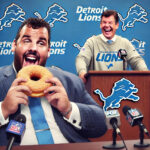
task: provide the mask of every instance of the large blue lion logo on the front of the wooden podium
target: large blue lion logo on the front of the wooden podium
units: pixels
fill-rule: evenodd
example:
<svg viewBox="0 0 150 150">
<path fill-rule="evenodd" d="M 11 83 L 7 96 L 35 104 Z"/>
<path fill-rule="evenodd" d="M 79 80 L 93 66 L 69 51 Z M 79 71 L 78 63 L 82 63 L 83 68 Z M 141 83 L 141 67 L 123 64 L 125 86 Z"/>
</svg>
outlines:
<svg viewBox="0 0 150 150">
<path fill-rule="evenodd" d="M 134 102 L 139 100 L 139 96 L 134 95 L 134 93 L 138 92 L 138 89 L 125 78 L 122 78 L 115 83 L 111 95 L 106 98 L 99 89 L 94 90 L 94 92 L 98 94 L 100 99 L 104 102 L 104 111 L 107 111 L 108 108 L 119 108 L 120 102 L 125 99 Z"/>
</svg>

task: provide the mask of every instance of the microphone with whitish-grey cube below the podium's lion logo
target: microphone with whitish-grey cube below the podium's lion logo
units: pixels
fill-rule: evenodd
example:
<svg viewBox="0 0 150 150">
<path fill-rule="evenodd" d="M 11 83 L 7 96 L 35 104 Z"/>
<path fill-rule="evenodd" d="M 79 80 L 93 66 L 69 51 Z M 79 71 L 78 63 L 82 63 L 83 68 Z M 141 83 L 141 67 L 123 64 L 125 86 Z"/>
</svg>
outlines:
<svg viewBox="0 0 150 150">
<path fill-rule="evenodd" d="M 106 124 L 108 129 L 114 129 L 116 130 L 117 134 L 120 134 L 120 129 L 118 126 L 120 126 L 120 114 L 118 110 L 108 110 L 105 111 L 106 115 Z"/>
</svg>

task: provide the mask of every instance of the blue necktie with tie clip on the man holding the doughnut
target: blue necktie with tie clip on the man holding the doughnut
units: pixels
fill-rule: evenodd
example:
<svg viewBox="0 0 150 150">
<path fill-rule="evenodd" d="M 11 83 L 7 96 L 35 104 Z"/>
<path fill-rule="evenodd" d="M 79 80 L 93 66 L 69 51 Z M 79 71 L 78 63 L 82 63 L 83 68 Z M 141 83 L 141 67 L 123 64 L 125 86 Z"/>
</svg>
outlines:
<svg viewBox="0 0 150 150">
<path fill-rule="evenodd" d="M 50 128 L 45 119 L 40 98 L 29 97 L 32 123 L 39 144 L 54 144 Z"/>
</svg>

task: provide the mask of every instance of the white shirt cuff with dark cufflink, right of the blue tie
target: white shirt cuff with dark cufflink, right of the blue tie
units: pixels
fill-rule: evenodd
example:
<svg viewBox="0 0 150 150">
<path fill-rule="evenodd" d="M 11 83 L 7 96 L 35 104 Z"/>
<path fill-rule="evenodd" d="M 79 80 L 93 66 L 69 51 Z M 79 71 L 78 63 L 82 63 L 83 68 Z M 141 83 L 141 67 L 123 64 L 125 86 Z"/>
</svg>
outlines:
<svg viewBox="0 0 150 150">
<path fill-rule="evenodd" d="M 72 104 L 71 115 L 70 115 L 69 119 L 67 119 L 65 117 L 64 117 L 64 119 L 67 122 L 71 123 L 76 128 L 81 129 L 81 116 L 80 116 L 79 108 L 78 108 L 77 104 L 75 104 L 74 102 L 71 102 L 71 104 Z"/>
</svg>

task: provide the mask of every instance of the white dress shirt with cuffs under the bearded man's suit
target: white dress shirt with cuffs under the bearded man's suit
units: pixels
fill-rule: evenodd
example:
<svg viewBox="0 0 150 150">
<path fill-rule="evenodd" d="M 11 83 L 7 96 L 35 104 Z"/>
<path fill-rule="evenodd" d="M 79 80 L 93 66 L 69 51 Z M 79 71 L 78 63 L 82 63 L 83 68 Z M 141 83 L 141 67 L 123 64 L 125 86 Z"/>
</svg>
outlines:
<svg viewBox="0 0 150 150">
<path fill-rule="evenodd" d="M 2 110 L 1 110 L 1 104 L 2 102 L 0 102 L 0 126 L 8 123 L 9 119 L 4 119 L 4 116 L 2 114 Z M 71 116 L 69 119 L 65 118 L 64 119 L 71 123 L 72 125 L 74 125 L 75 127 L 77 127 L 78 129 L 81 129 L 80 126 L 80 112 L 79 109 L 77 107 L 77 105 L 73 102 L 71 102 L 72 104 L 72 112 L 71 112 Z M 68 143 L 67 139 L 63 136 L 63 134 L 61 133 L 55 118 L 53 116 L 53 112 L 52 112 L 52 108 L 51 105 L 48 103 L 48 101 L 43 97 L 41 98 L 41 105 L 45 114 L 45 118 L 47 120 L 47 123 L 49 125 L 49 128 L 51 130 L 52 136 L 53 136 L 53 140 L 54 143 Z M 21 145 L 37 145 L 37 139 L 36 139 L 36 135 L 35 135 L 35 130 L 31 121 L 31 114 L 30 114 L 30 110 L 29 107 L 26 105 L 21 105 L 21 114 L 24 114 L 26 116 L 26 130 L 24 133 L 24 136 L 21 140 Z M 76 121 L 74 121 L 76 120 Z"/>
</svg>

